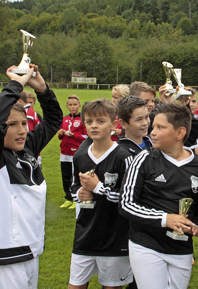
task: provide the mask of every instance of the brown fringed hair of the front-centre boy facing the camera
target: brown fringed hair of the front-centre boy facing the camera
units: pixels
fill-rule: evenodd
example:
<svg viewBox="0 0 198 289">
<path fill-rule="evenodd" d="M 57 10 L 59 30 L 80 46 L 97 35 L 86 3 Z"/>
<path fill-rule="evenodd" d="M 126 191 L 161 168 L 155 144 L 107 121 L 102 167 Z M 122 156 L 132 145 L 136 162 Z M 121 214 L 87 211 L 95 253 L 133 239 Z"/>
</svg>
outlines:
<svg viewBox="0 0 198 289">
<path fill-rule="evenodd" d="M 83 105 L 83 114 L 87 114 L 89 117 L 109 115 L 113 122 L 117 114 L 117 105 L 105 98 L 98 98 Z"/>
</svg>

